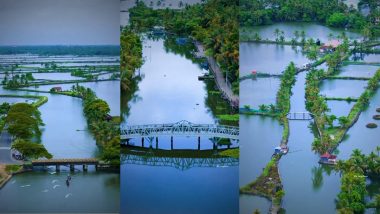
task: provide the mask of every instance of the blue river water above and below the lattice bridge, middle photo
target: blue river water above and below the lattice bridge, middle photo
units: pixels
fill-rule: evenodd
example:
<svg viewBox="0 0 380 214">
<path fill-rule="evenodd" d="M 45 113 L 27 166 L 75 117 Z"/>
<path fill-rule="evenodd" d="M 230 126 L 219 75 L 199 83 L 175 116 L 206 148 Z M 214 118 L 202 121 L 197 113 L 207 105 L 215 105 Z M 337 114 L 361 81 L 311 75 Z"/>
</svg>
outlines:
<svg viewBox="0 0 380 214">
<path fill-rule="evenodd" d="M 181 120 L 217 122 L 207 104 L 207 86 L 198 80 L 205 70 L 166 48 L 163 39 L 144 39 L 143 56 L 142 80 L 129 107 L 124 107 L 130 109 L 128 115 L 124 114 L 124 125 Z M 130 143 L 140 146 L 141 139 L 132 139 Z M 158 144 L 159 148 L 170 151 L 169 137 L 159 137 Z M 197 138 L 175 136 L 173 144 L 175 156 L 176 149 L 196 150 Z M 212 145 L 209 139 L 201 137 L 202 150 L 212 149 Z M 176 161 L 181 163 L 185 159 L 179 156 Z M 122 213 L 230 214 L 238 212 L 238 200 L 237 165 L 193 166 L 183 170 L 147 163 L 124 163 L 121 167 Z"/>
</svg>

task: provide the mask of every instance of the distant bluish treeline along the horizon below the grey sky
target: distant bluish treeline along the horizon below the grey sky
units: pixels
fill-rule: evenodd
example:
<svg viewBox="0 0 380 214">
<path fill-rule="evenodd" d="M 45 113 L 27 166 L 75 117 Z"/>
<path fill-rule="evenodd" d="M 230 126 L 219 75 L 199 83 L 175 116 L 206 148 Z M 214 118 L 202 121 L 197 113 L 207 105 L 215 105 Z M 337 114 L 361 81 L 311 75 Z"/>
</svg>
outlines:
<svg viewBox="0 0 380 214">
<path fill-rule="evenodd" d="M 107 55 L 118 56 L 118 45 L 76 45 L 76 46 L 0 46 L 0 54 L 38 54 L 38 55 Z"/>
</svg>

